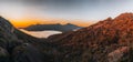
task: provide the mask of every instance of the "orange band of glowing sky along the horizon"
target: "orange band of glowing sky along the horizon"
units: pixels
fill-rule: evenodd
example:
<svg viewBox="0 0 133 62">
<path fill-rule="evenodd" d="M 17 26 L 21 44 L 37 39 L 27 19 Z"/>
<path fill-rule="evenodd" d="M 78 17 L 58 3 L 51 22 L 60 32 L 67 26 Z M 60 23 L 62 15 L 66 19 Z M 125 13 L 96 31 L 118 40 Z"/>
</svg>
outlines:
<svg viewBox="0 0 133 62">
<path fill-rule="evenodd" d="M 65 24 L 65 23 L 72 23 L 72 24 L 76 24 L 80 27 L 89 27 L 90 24 L 94 23 L 94 22 L 85 22 L 85 21 L 80 21 L 80 20 L 73 20 L 73 21 L 68 21 L 68 20 L 61 20 L 61 19 L 43 19 L 43 20 L 39 20 L 39 19 L 9 19 L 10 22 L 16 27 L 16 28 L 25 28 L 28 25 L 31 24 L 53 24 L 53 23 L 61 23 L 61 24 Z"/>
</svg>

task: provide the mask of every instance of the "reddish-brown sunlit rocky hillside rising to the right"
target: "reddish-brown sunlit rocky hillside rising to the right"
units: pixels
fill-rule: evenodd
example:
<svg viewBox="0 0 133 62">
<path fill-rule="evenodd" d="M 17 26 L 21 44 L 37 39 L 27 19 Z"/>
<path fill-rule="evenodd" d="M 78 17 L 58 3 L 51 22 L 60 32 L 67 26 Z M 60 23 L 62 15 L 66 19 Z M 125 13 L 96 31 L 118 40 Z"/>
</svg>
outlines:
<svg viewBox="0 0 133 62">
<path fill-rule="evenodd" d="M 75 58 L 79 62 L 132 62 L 133 13 L 122 13 L 49 39 L 58 45 L 71 48 L 74 56 L 68 53 L 68 58 Z"/>
</svg>

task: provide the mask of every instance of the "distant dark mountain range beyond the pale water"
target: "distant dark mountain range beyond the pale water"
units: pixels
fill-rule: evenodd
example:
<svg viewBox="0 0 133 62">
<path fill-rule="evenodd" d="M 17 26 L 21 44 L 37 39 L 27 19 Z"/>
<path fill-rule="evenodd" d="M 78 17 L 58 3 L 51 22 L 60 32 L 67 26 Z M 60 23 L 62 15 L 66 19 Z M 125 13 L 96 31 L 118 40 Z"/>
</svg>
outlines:
<svg viewBox="0 0 133 62">
<path fill-rule="evenodd" d="M 57 23 L 57 24 L 34 24 L 24 29 L 28 31 L 54 30 L 54 31 L 68 32 L 68 31 L 79 30 L 82 27 L 78 27 L 71 23 L 66 23 L 66 24 Z"/>
</svg>

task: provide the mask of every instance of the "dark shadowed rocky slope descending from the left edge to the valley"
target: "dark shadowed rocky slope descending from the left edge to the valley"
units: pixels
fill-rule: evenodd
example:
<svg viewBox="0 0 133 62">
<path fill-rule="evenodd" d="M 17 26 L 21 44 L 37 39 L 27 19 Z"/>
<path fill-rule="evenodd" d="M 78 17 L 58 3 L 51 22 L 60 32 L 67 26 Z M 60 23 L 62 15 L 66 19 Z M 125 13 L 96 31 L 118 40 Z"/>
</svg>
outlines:
<svg viewBox="0 0 133 62">
<path fill-rule="evenodd" d="M 0 17 L 0 62 L 51 62 L 52 50 L 45 39 L 28 35 Z"/>
</svg>

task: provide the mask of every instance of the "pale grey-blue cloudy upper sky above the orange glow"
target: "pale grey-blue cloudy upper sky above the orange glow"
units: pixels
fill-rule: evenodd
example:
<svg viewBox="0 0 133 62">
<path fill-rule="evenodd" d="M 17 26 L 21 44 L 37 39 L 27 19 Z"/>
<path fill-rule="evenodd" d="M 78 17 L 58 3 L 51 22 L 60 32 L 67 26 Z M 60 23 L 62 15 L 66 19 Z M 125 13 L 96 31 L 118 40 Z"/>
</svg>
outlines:
<svg viewBox="0 0 133 62">
<path fill-rule="evenodd" d="M 133 0 L 0 0 L 0 14 L 99 20 L 133 10 Z"/>
</svg>

